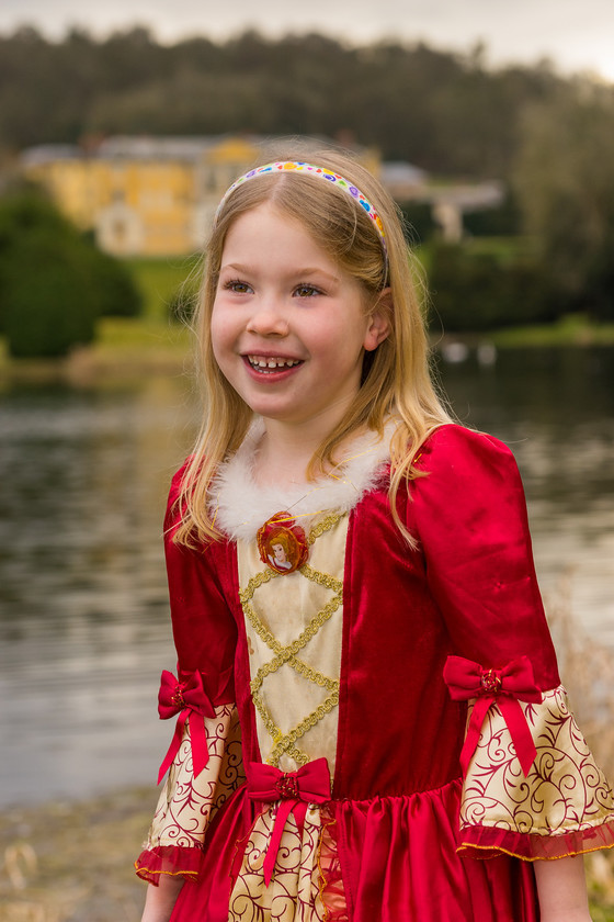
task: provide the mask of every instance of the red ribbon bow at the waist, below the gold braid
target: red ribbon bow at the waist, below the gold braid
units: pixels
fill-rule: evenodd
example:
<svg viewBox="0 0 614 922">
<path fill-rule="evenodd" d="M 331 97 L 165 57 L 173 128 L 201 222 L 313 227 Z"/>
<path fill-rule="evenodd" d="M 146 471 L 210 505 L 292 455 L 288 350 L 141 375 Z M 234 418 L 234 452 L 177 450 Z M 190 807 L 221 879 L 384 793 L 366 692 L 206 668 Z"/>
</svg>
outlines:
<svg viewBox="0 0 614 922">
<path fill-rule="evenodd" d="M 307 808 L 310 803 L 326 803 L 330 800 L 330 773 L 326 758 L 308 762 L 298 772 L 281 772 L 274 765 L 252 762 L 248 772 L 248 795 L 263 803 L 280 801 L 271 842 L 262 869 L 264 882 L 271 882 L 277 852 L 286 820 L 294 813 L 298 831 L 303 833 Z"/>
</svg>

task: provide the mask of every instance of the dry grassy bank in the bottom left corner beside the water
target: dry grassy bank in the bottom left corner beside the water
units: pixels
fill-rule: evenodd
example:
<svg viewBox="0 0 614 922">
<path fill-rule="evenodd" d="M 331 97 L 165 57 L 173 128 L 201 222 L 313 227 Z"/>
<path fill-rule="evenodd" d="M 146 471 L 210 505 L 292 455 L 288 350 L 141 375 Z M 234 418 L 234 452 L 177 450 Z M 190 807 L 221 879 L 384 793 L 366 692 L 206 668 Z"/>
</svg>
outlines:
<svg viewBox="0 0 614 922">
<path fill-rule="evenodd" d="M 0 922 L 138 922 L 155 787 L 0 809 Z"/>
</svg>

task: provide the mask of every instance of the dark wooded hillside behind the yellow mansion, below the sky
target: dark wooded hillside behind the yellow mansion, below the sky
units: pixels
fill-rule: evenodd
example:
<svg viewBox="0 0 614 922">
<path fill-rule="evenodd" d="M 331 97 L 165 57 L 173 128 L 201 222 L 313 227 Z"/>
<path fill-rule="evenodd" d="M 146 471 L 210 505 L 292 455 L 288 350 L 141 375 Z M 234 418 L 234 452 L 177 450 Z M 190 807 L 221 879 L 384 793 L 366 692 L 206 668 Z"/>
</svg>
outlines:
<svg viewBox="0 0 614 922">
<path fill-rule="evenodd" d="M 161 45 L 139 27 L 105 40 L 0 35 L 0 136 L 13 150 L 96 133 L 308 134 L 352 137 L 433 173 L 505 179 L 522 112 L 566 87 L 544 66 L 487 68 L 479 47 L 463 56 L 253 31 Z"/>
</svg>

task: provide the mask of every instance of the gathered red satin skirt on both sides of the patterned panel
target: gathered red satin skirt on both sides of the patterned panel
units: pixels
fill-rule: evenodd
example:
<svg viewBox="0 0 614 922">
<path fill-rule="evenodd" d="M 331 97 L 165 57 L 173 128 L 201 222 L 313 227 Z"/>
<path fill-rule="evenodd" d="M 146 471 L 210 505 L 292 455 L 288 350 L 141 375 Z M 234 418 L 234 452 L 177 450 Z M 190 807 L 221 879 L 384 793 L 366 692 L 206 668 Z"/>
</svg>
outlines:
<svg viewBox="0 0 614 922">
<path fill-rule="evenodd" d="M 321 898 L 342 922 L 537 922 L 535 876 L 525 862 L 456 855 L 461 780 L 407 797 L 334 800 L 325 825 L 339 867 L 320 854 Z M 246 787 L 216 813 L 202 870 L 182 888 L 173 922 L 227 922 L 237 842 L 253 822 Z M 496 897 L 493 896 L 496 895 Z M 345 903 L 345 906 L 343 904 Z"/>
</svg>

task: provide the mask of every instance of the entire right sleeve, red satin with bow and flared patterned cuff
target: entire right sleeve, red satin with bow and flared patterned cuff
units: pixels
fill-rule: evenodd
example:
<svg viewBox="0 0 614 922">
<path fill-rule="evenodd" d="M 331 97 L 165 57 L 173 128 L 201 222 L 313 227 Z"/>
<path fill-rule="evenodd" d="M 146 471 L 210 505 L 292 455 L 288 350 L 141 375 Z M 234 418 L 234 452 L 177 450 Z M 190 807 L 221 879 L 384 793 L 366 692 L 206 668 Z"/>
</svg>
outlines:
<svg viewBox="0 0 614 922">
<path fill-rule="evenodd" d="M 558 676 L 511 451 L 450 425 L 425 443 L 408 527 L 451 638 L 467 708 L 458 851 L 534 861 L 614 845 L 614 797 Z"/>
</svg>

